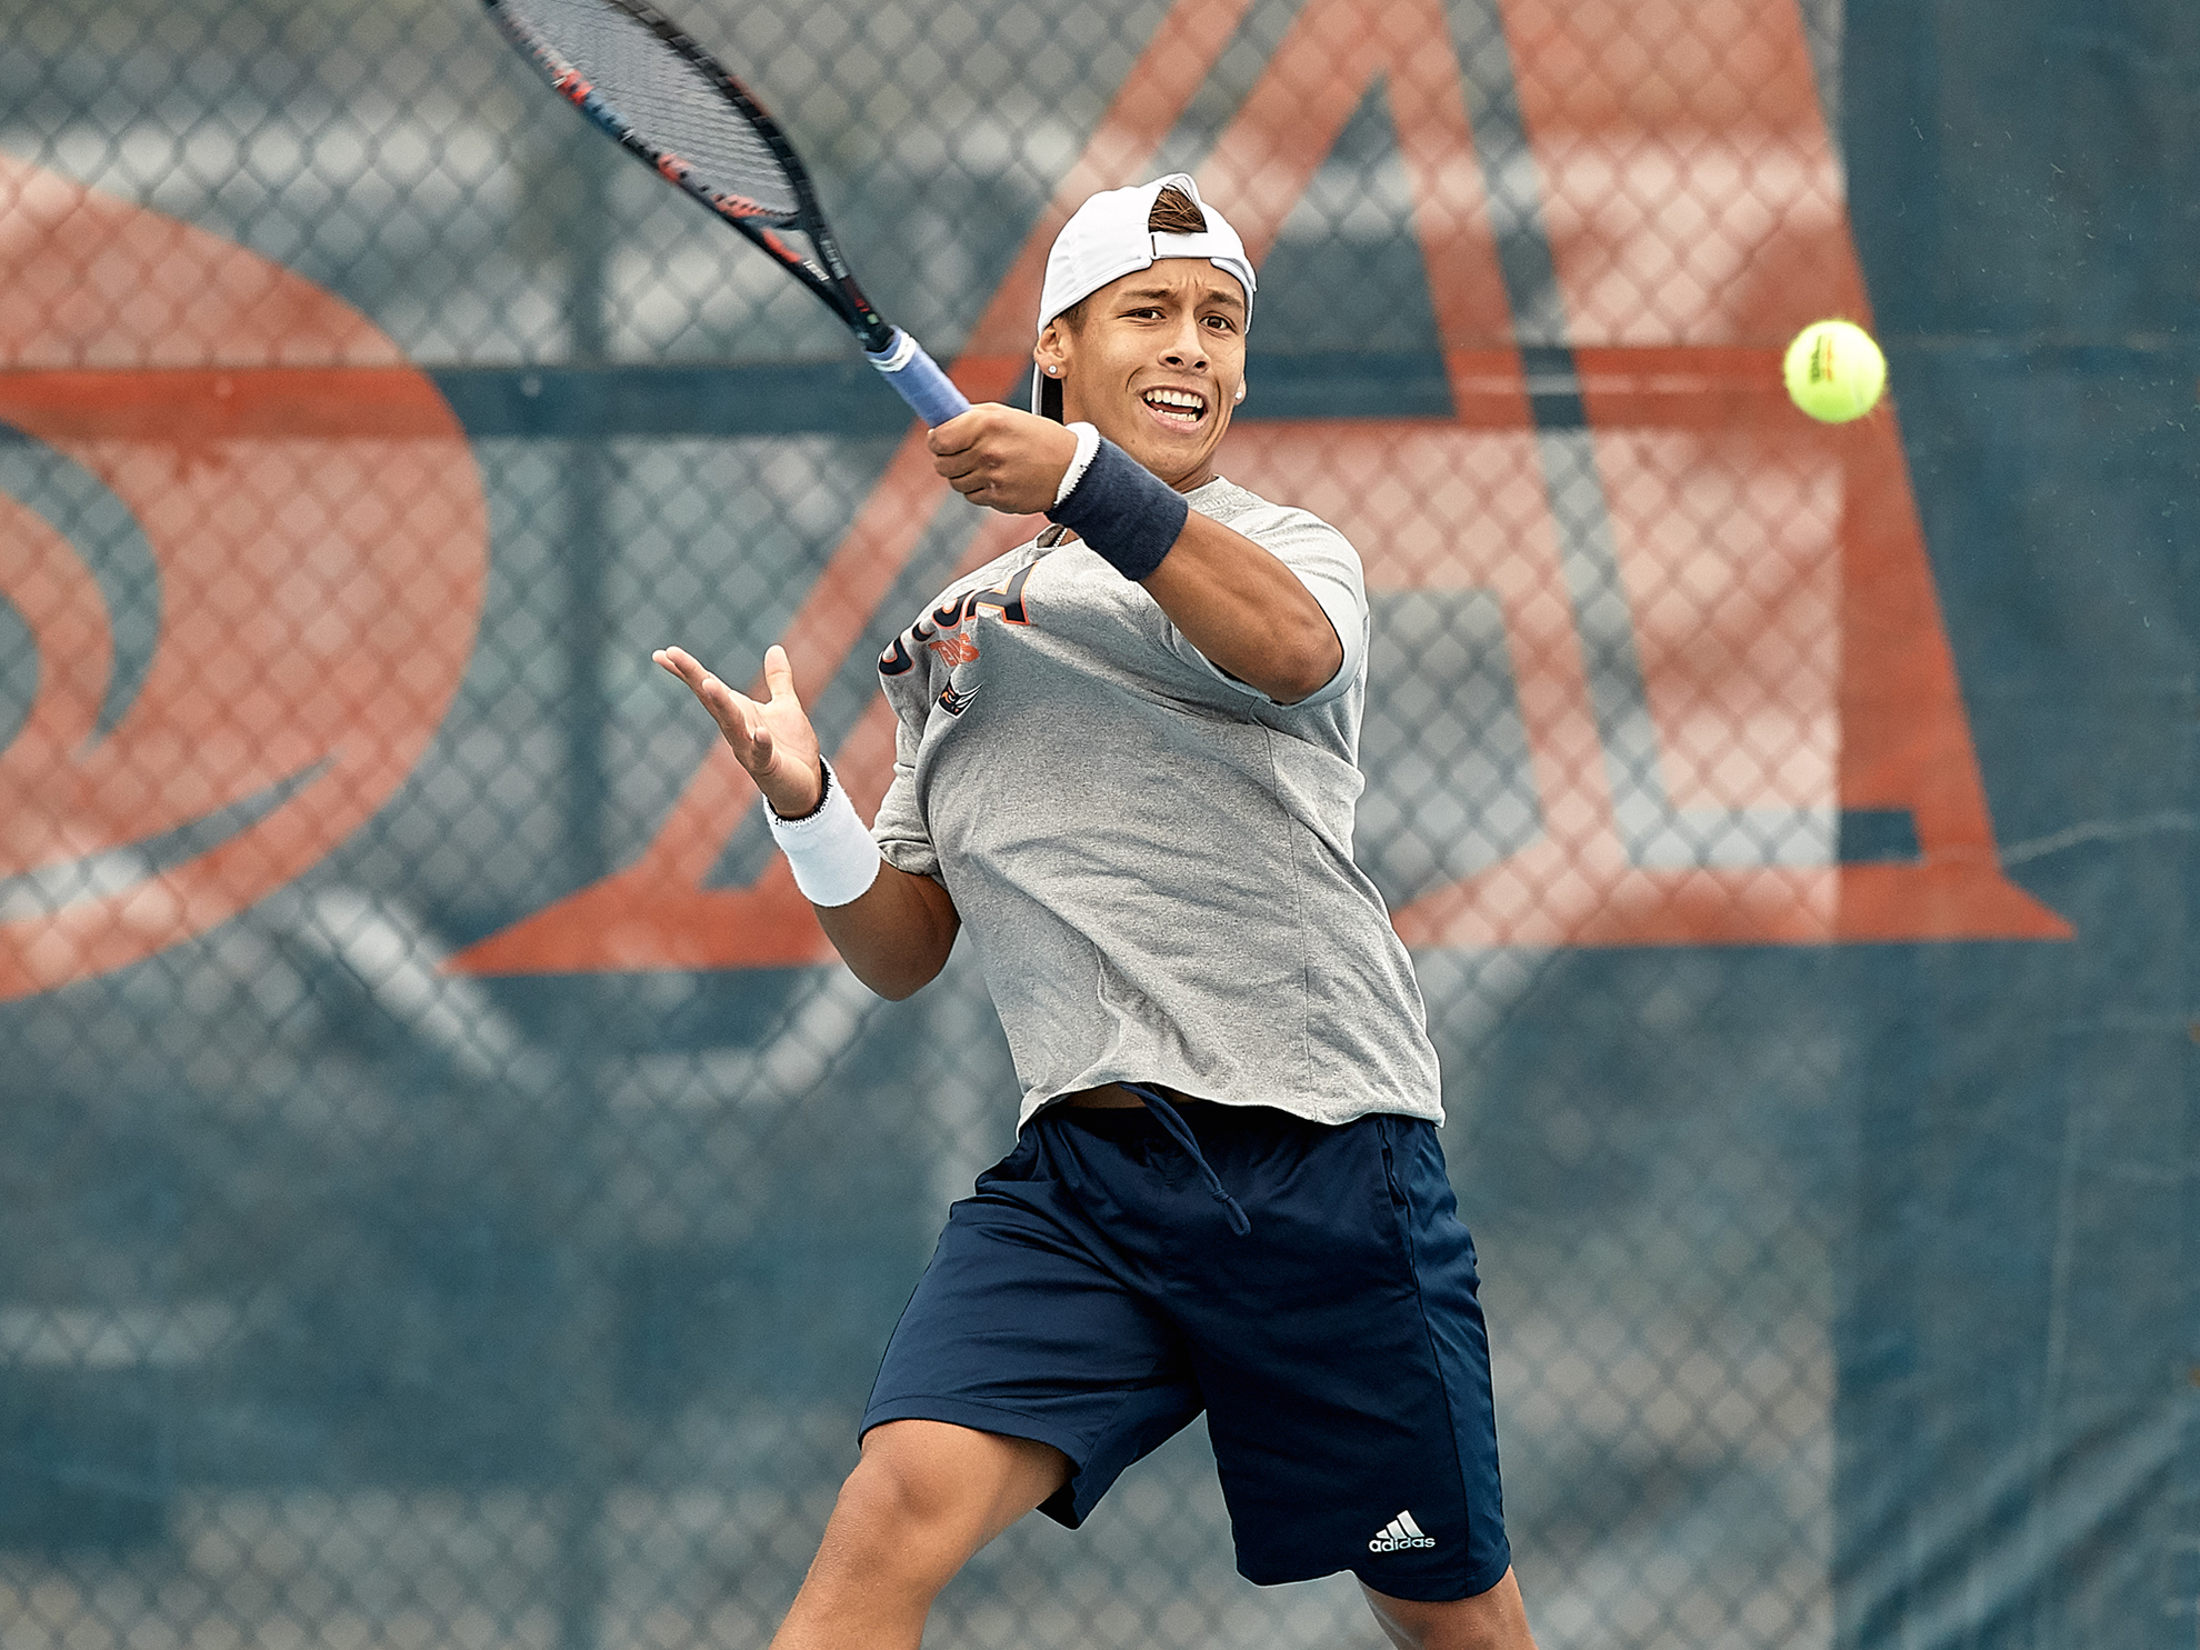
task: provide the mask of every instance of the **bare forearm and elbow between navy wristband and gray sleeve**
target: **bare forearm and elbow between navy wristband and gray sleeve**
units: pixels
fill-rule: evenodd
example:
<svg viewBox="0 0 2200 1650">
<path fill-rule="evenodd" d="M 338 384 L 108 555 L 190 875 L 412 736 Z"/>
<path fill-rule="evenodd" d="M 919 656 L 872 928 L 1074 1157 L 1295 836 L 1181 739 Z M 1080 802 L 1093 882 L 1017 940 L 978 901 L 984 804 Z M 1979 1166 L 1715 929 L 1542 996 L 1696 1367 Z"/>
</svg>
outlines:
<svg viewBox="0 0 2200 1650">
<path fill-rule="evenodd" d="M 1318 693 L 1344 664 L 1344 642 L 1305 581 L 1199 510 L 1140 583 L 1210 664 L 1278 704 Z"/>
</svg>

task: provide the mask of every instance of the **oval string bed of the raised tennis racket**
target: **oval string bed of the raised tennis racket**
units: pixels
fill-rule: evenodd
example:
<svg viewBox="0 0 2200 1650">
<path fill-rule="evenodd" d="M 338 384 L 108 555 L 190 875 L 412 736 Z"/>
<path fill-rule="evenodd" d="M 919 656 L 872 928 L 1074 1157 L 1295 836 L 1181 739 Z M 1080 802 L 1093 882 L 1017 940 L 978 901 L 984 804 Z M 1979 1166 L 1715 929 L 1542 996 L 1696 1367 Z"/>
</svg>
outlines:
<svg viewBox="0 0 2200 1650">
<path fill-rule="evenodd" d="M 504 11 L 572 64 L 651 150 L 684 161 L 704 194 L 755 202 L 772 218 L 801 209 L 748 117 L 640 18 L 605 0 L 504 0 Z"/>
</svg>

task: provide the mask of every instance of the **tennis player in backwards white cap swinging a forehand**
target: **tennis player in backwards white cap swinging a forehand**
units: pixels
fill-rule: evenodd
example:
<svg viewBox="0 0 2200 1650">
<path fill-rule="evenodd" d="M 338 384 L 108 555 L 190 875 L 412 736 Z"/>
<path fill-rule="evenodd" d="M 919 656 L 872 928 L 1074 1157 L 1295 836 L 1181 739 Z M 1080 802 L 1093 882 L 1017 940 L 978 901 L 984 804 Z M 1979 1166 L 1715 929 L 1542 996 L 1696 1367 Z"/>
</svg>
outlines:
<svg viewBox="0 0 2200 1650">
<path fill-rule="evenodd" d="M 1214 473 L 1254 271 L 1190 176 L 1098 194 L 1047 260 L 1032 411 L 931 433 L 1045 513 L 895 638 L 865 827 L 766 653 L 680 649 L 847 966 L 906 997 L 968 926 L 1016 1148 L 948 1212 L 779 1650 L 915 1650 L 1010 1522 L 1076 1527 L 1208 1415 L 1239 1569 L 1353 1571 L 1399 1646 L 1531 1646 L 1474 1245 L 1412 966 L 1353 865 L 1360 559 Z"/>
</svg>

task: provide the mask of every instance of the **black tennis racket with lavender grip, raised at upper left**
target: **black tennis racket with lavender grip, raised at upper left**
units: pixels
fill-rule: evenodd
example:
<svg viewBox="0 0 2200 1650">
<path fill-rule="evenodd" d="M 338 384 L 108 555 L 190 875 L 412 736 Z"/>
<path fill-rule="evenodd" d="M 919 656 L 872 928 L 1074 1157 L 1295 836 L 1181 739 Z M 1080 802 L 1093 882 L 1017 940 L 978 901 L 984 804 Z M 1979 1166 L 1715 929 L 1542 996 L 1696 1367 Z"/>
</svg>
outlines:
<svg viewBox="0 0 2200 1650">
<path fill-rule="evenodd" d="M 642 0 L 484 0 L 504 37 L 627 154 L 807 286 L 926 425 L 970 411 L 924 348 L 871 308 L 785 132 L 717 59 Z M 803 255 L 788 233 L 807 238 Z"/>
</svg>

